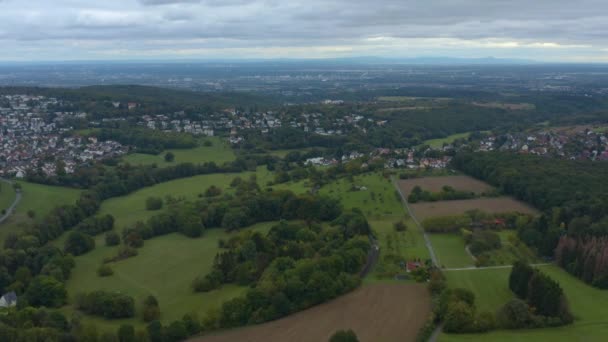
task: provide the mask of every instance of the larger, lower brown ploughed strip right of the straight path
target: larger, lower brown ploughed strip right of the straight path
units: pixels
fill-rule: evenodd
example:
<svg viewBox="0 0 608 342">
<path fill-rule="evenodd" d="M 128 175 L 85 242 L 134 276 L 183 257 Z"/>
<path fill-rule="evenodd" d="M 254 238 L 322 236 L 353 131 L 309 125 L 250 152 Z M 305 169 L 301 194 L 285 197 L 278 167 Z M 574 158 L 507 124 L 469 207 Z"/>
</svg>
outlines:
<svg viewBox="0 0 608 342">
<path fill-rule="evenodd" d="M 434 216 L 463 214 L 468 210 L 479 209 L 487 213 L 520 212 L 537 214 L 538 211 L 511 197 L 476 198 L 470 200 L 420 202 L 409 205 L 413 214 L 422 221 Z"/>
</svg>

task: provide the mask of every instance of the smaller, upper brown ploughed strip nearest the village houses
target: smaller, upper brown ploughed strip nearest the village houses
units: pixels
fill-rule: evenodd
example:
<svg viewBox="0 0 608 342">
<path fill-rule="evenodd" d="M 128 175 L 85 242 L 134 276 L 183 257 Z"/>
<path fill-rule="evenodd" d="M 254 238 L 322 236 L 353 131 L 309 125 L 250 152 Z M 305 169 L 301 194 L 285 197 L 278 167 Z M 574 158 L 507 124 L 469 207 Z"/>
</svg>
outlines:
<svg viewBox="0 0 608 342">
<path fill-rule="evenodd" d="M 476 194 L 481 194 L 485 191 L 492 190 L 492 186 L 477 180 L 473 177 L 458 175 L 458 176 L 443 176 L 443 177 L 423 177 L 399 180 L 399 188 L 405 197 L 409 196 L 414 187 L 419 186 L 422 190 L 430 192 L 439 192 L 444 186 L 450 186 L 460 191 L 470 191 Z"/>
</svg>

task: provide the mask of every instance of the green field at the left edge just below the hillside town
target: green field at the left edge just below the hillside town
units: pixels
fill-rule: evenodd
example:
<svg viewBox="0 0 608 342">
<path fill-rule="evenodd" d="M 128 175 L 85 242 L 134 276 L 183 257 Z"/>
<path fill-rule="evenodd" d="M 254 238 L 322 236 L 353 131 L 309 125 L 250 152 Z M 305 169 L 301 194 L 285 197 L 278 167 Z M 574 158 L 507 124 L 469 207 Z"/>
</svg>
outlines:
<svg viewBox="0 0 608 342">
<path fill-rule="evenodd" d="M 49 186 L 19 181 L 21 184 L 21 202 L 15 212 L 0 224 L 0 242 L 10 233 L 22 231 L 25 227 L 46 216 L 54 207 L 64 204 L 74 204 L 80 195 L 80 190 L 59 186 Z M 8 185 L 2 183 L 3 191 Z M 34 220 L 27 216 L 33 210 Z"/>
</svg>

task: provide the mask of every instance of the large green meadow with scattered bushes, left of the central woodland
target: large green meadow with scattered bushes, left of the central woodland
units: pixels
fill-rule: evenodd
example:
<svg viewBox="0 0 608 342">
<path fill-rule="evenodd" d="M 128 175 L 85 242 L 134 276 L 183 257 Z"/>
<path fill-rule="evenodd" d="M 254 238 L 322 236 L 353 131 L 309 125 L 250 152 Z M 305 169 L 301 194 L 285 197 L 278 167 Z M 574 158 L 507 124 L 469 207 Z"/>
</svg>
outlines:
<svg viewBox="0 0 608 342">
<path fill-rule="evenodd" d="M 267 232 L 275 223 L 266 222 L 250 228 Z M 234 298 L 246 290 L 236 285 L 223 286 L 207 293 L 195 293 L 191 283 L 199 275 L 211 270 L 214 257 L 220 250 L 218 242 L 230 234 L 221 229 L 206 230 L 202 237 L 191 239 L 174 233 L 146 240 L 139 255 L 119 262 L 110 263 L 114 274 L 99 277 L 97 268 L 105 257 L 116 253 L 118 247 L 106 247 L 103 235 L 96 239 L 96 248 L 75 258 L 76 267 L 66 283 L 69 304 L 79 292 L 94 290 L 120 291 L 131 295 L 136 303 L 136 316 L 123 320 L 105 320 L 85 316 L 87 321 L 95 322 L 101 328 L 115 329 L 123 323 L 143 326 L 141 303 L 148 295 L 154 295 L 161 309 L 161 320 L 170 322 L 181 318 L 185 313 L 197 313 L 199 317 L 209 309 L 218 307 L 224 301 Z M 68 306 L 66 312 L 75 312 Z"/>
</svg>

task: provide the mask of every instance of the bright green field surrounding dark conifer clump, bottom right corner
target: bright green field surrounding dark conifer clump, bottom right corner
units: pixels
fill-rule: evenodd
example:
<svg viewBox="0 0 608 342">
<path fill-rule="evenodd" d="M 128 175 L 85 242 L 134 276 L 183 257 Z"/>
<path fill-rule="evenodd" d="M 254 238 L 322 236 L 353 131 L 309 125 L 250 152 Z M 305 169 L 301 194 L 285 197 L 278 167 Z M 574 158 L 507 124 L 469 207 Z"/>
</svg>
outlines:
<svg viewBox="0 0 608 342">
<path fill-rule="evenodd" d="M 608 336 L 608 292 L 593 288 L 557 266 L 541 266 L 543 272 L 559 282 L 575 316 L 572 325 L 533 330 L 500 330 L 487 334 L 441 334 L 439 341 L 604 341 Z M 483 275 L 481 273 L 494 272 Z M 502 272 L 501 272 L 502 271 Z M 476 303 L 494 303 L 494 297 L 508 300 L 509 269 L 445 272 L 449 286 L 467 286 L 476 295 Z M 506 291 L 506 292 L 505 292 Z M 479 305 L 479 304 L 478 304 Z"/>
</svg>

